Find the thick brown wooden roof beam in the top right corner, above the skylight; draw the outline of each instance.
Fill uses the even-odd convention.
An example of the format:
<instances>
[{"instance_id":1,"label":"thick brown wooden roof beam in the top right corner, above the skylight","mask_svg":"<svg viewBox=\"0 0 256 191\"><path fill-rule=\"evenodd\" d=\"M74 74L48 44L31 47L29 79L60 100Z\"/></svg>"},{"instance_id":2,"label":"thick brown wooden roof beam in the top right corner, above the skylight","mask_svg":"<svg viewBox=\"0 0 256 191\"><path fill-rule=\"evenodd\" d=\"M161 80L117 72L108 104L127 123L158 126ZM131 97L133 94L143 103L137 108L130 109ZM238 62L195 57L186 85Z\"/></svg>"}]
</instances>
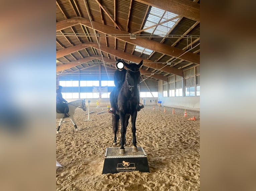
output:
<instances>
[{"instance_id":1,"label":"thick brown wooden roof beam in the top right corner, above the skylight","mask_svg":"<svg viewBox=\"0 0 256 191\"><path fill-rule=\"evenodd\" d=\"M140 3L157 7L181 15L188 19L200 21L200 4L189 0L135 0Z\"/></svg>"}]
</instances>

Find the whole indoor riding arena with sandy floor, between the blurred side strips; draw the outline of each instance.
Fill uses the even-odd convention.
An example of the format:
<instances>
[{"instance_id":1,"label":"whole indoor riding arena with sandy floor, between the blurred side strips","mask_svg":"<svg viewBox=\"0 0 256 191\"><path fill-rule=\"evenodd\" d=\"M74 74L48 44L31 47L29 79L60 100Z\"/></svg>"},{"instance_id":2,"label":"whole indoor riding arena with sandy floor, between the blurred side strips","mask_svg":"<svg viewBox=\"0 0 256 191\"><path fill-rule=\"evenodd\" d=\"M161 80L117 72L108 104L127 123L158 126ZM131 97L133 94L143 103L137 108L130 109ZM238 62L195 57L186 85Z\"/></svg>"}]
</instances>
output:
<instances>
[{"instance_id":1,"label":"whole indoor riding arena with sandy floor, between the blurred side strips","mask_svg":"<svg viewBox=\"0 0 256 191\"><path fill-rule=\"evenodd\" d=\"M56 190L200 190L200 0L56 1Z\"/></svg>"}]
</instances>

